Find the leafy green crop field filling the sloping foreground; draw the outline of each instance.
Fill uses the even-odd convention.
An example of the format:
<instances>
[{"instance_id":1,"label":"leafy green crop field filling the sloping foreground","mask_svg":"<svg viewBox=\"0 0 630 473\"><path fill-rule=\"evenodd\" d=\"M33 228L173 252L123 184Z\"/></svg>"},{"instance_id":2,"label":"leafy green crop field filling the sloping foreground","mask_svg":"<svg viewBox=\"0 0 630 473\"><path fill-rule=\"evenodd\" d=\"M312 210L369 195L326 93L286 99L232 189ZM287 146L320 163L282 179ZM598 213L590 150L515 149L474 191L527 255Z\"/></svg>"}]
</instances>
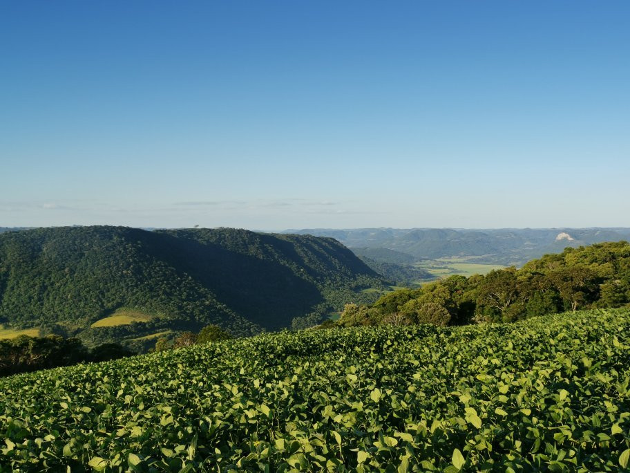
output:
<instances>
[{"instance_id":1,"label":"leafy green crop field filling the sloping foreground","mask_svg":"<svg viewBox=\"0 0 630 473\"><path fill-rule=\"evenodd\" d=\"M0 380L0 465L618 471L629 384L627 310L260 335Z\"/></svg>"}]
</instances>

